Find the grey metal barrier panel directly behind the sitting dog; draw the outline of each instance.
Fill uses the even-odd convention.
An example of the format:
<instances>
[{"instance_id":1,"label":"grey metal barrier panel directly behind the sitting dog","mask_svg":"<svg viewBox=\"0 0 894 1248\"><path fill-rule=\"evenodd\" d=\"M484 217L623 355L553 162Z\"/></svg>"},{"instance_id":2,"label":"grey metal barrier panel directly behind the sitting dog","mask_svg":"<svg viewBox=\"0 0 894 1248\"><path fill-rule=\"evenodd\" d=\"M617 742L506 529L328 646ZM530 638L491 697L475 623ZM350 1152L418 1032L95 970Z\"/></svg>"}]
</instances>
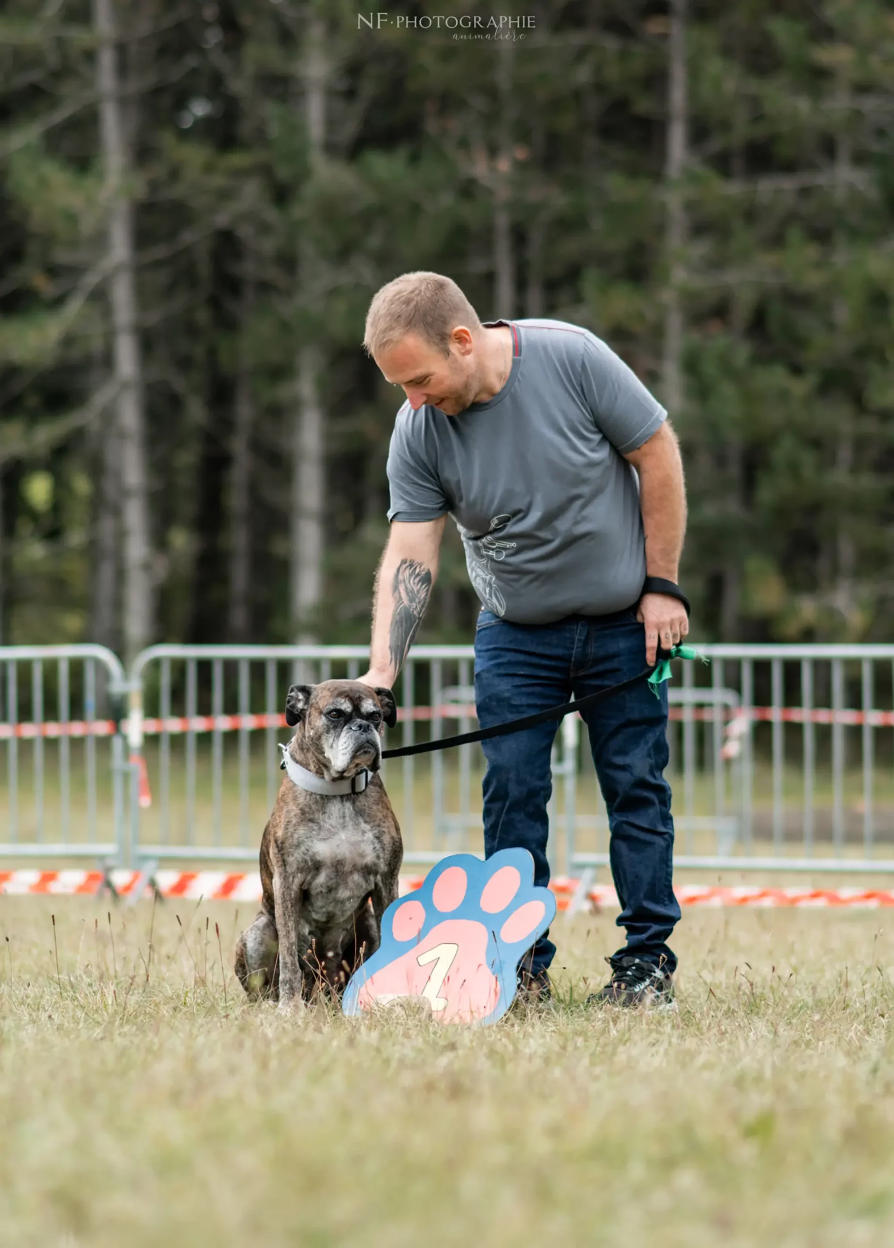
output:
<instances>
[{"instance_id":1,"label":"grey metal barrier panel directly behind the sitting dog","mask_svg":"<svg viewBox=\"0 0 894 1248\"><path fill-rule=\"evenodd\" d=\"M401 675L388 744L468 731L474 718L471 646L417 646ZM356 678L366 646L180 646L144 651L131 673L142 690L129 726L146 759L151 806L131 804L134 851L144 859L253 860L282 774L288 685ZM425 738L420 736L425 734ZM477 849L479 746L386 761L407 862Z\"/></svg>"}]
</instances>

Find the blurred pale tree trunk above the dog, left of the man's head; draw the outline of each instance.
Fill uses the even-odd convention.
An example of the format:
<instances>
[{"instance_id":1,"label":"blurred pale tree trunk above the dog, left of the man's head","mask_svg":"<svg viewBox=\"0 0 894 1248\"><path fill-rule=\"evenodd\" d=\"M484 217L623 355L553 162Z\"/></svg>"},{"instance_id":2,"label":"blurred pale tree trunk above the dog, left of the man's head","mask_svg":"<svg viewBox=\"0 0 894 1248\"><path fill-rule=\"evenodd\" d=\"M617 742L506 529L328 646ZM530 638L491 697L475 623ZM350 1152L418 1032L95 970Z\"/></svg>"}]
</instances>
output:
<instances>
[{"instance_id":1,"label":"blurred pale tree trunk above the dog, left of the man's head","mask_svg":"<svg viewBox=\"0 0 894 1248\"><path fill-rule=\"evenodd\" d=\"M326 31L317 14L308 19L307 41L301 66L305 126L311 157L311 176L326 158L326 91L330 65ZM305 298L322 297L318 290L318 260L300 243L298 290ZM311 617L320 605L323 585L325 451L323 408L320 394L322 351L316 342L298 349L296 412L292 428L292 514L290 525L290 607L292 633L298 643L313 636Z\"/></svg>"}]
</instances>

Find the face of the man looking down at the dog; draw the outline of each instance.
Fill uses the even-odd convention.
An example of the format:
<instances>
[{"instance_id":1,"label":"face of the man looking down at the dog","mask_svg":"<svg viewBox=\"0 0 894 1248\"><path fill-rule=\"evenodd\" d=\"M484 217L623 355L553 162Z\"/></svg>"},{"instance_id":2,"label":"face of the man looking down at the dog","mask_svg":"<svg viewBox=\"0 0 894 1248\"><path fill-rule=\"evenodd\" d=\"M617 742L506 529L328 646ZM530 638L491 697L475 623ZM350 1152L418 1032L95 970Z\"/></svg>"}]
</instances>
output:
<instances>
[{"instance_id":1,"label":"face of the man looking down at the dog","mask_svg":"<svg viewBox=\"0 0 894 1248\"><path fill-rule=\"evenodd\" d=\"M474 402L478 391L472 334L459 326L451 334L449 354L415 333L376 356L385 379L400 386L416 412L425 403L457 416Z\"/></svg>"}]
</instances>

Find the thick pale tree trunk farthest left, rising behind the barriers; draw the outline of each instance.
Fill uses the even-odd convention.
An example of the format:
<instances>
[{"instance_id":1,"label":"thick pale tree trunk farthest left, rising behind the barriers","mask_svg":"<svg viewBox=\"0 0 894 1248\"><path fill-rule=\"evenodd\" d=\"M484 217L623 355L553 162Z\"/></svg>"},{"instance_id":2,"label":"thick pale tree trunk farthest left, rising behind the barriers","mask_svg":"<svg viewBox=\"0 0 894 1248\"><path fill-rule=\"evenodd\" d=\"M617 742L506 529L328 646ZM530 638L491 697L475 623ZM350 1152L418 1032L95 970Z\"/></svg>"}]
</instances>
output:
<instances>
[{"instance_id":1,"label":"thick pale tree trunk farthest left, rising behind the barriers","mask_svg":"<svg viewBox=\"0 0 894 1248\"><path fill-rule=\"evenodd\" d=\"M149 645L154 631L152 552L149 530L149 480L142 371L140 361L136 280L134 270L134 203L126 185L130 158L125 146L117 46L112 0L94 0L99 37L96 81L100 96L100 137L109 197L109 295L121 470L124 538L124 650L130 661Z\"/></svg>"}]
</instances>

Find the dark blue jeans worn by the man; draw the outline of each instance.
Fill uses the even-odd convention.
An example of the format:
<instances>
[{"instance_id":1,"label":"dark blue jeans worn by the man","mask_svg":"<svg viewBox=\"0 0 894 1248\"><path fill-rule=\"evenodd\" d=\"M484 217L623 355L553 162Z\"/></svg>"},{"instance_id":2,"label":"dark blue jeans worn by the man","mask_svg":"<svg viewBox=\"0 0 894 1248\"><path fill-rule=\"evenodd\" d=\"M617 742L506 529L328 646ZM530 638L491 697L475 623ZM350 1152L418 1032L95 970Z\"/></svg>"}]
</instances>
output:
<instances>
[{"instance_id":1,"label":"dark blue jeans worn by the man","mask_svg":"<svg viewBox=\"0 0 894 1248\"><path fill-rule=\"evenodd\" d=\"M474 698L482 728L583 698L646 666L646 635L636 608L612 615L571 615L557 624L509 624L482 612L474 634ZM618 926L634 953L673 971L667 941L679 919L673 894L673 819L668 761L667 688L656 698L646 679L583 713L608 810ZM484 854L522 846L534 860L534 884L549 882L547 802L549 753L558 721L483 741ZM556 946L543 936L529 965L549 966Z\"/></svg>"}]
</instances>

